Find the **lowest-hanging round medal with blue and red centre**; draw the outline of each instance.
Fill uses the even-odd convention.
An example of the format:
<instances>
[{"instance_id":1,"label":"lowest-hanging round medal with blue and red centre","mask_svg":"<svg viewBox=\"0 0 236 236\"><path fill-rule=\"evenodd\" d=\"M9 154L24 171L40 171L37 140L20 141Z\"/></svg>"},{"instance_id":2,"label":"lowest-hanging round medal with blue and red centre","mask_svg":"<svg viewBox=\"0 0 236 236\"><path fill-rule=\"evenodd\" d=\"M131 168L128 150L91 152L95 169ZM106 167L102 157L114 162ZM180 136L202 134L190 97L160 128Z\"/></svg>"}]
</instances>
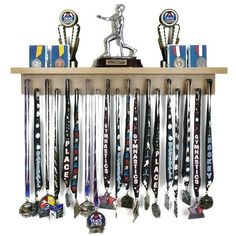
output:
<instances>
[{"instance_id":1,"label":"lowest-hanging round medal with blue and red centre","mask_svg":"<svg viewBox=\"0 0 236 236\"><path fill-rule=\"evenodd\" d=\"M105 216L95 211L87 218L87 226L90 229L90 233L102 233L106 224Z\"/></svg>"}]
</instances>

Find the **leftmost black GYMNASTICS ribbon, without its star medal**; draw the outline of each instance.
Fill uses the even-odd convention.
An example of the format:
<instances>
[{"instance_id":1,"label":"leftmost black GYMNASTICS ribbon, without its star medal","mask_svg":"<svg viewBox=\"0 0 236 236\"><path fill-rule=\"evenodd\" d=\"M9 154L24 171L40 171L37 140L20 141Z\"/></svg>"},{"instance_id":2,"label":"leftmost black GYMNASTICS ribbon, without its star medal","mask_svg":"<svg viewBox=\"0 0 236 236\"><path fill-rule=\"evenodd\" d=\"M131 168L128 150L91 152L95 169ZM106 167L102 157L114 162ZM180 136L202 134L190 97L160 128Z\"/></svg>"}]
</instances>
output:
<instances>
[{"instance_id":1,"label":"leftmost black GYMNASTICS ribbon, without its star medal","mask_svg":"<svg viewBox=\"0 0 236 236\"><path fill-rule=\"evenodd\" d=\"M111 157L110 157L110 80L106 80L104 130L103 130L103 178L105 189L110 186Z\"/></svg>"}]
</instances>

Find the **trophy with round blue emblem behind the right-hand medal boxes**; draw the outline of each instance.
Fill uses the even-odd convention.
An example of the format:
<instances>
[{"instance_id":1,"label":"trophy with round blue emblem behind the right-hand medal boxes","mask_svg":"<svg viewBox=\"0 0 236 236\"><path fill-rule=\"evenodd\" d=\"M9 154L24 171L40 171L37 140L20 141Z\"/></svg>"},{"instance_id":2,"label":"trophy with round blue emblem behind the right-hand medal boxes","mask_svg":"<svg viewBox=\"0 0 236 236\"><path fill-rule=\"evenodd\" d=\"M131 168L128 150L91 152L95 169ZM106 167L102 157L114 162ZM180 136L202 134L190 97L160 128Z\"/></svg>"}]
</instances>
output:
<instances>
[{"instance_id":1,"label":"trophy with round blue emblem behind the right-hand medal boxes","mask_svg":"<svg viewBox=\"0 0 236 236\"><path fill-rule=\"evenodd\" d=\"M178 44L180 26L178 22L178 14L173 9L164 10L159 18L158 25L158 43L161 49L163 60L161 67L167 67L167 45Z\"/></svg>"}]
</instances>

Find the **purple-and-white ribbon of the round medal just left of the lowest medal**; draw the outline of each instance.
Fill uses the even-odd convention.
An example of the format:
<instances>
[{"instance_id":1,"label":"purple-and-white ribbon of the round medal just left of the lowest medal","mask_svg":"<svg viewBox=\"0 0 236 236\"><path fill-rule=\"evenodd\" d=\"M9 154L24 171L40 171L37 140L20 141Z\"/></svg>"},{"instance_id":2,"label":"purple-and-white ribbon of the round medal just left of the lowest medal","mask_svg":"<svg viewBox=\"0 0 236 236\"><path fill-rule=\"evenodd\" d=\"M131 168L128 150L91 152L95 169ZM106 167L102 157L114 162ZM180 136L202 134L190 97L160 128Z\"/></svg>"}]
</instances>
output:
<instances>
[{"instance_id":1,"label":"purple-and-white ribbon of the round medal just left of the lowest medal","mask_svg":"<svg viewBox=\"0 0 236 236\"><path fill-rule=\"evenodd\" d=\"M90 195L90 164L91 164L91 150L90 150L90 126L91 126L91 111L90 111L90 96L91 87L90 80L86 80L86 96L85 96L85 197Z\"/></svg>"}]
</instances>

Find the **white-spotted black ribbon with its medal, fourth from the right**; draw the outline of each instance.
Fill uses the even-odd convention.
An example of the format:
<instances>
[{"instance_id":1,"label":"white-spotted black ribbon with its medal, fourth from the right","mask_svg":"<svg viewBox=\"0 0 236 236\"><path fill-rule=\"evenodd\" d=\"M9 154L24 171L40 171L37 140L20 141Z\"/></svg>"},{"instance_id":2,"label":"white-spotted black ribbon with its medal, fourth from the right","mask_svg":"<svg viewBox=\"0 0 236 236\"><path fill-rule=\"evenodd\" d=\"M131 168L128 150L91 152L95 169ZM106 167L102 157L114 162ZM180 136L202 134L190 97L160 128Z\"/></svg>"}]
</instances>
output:
<instances>
[{"instance_id":1,"label":"white-spotted black ribbon with its medal, fourth from the right","mask_svg":"<svg viewBox=\"0 0 236 236\"><path fill-rule=\"evenodd\" d=\"M180 110L180 89L175 90L175 161L174 161L174 214L178 217L178 185L179 185L179 110Z\"/></svg>"}]
</instances>

